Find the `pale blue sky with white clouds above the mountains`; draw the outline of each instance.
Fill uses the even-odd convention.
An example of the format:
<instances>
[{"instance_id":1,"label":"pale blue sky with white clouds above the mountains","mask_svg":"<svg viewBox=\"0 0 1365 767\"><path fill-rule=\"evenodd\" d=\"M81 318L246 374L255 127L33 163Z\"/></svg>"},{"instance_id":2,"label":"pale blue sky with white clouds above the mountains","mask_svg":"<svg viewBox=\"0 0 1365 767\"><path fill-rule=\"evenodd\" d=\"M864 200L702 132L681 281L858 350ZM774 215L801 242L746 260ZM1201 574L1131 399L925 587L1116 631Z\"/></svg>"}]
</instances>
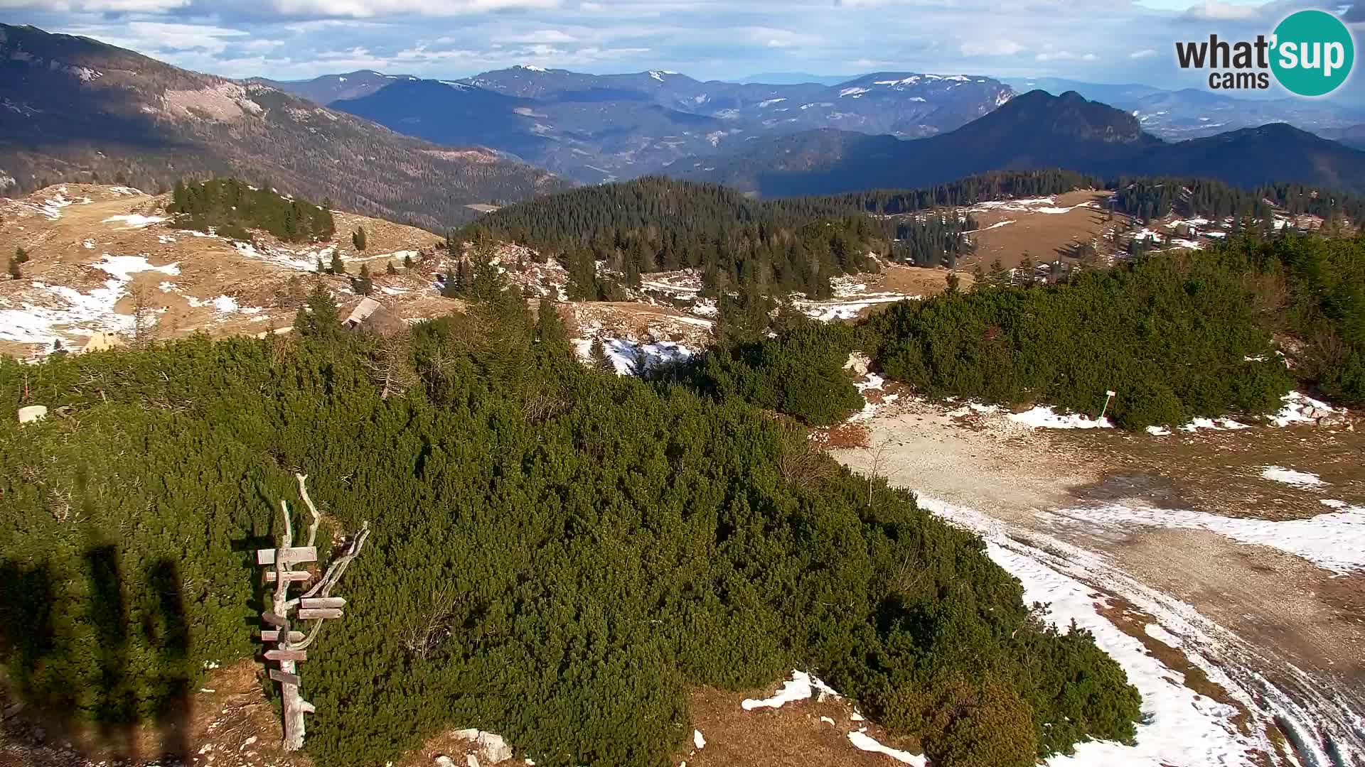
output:
<instances>
[{"instance_id":1,"label":"pale blue sky with white clouds above the mountains","mask_svg":"<svg viewBox=\"0 0 1365 767\"><path fill-rule=\"evenodd\" d=\"M378 70L444 79L532 64L698 79L872 71L1207 87L1179 40L1249 40L1365 0L0 0L0 19L225 76ZM1357 68L1365 68L1365 64ZM1365 102L1365 75L1327 98Z\"/></svg>"}]
</instances>

